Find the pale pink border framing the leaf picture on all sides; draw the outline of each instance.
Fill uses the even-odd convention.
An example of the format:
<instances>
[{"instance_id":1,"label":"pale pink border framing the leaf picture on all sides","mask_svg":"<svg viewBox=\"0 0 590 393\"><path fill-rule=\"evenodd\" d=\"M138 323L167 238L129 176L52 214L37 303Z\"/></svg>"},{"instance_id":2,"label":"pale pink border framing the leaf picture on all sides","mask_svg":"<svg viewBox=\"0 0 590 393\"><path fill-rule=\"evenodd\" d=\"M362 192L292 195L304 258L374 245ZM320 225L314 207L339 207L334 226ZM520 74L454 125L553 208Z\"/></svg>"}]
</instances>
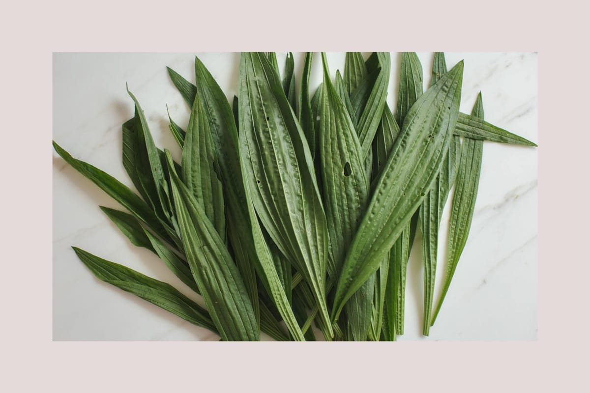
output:
<instances>
[{"instance_id":1,"label":"pale pink border framing the leaf picture on all sides","mask_svg":"<svg viewBox=\"0 0 590 393\"><path fill-rule=\"evenodd\" d=\"M587 388L588 13L578 2L136 3L3 12L3 390ZM51 52L252 49L539 51L537 342L51 342Z\"/></svg>"}]
</instances>

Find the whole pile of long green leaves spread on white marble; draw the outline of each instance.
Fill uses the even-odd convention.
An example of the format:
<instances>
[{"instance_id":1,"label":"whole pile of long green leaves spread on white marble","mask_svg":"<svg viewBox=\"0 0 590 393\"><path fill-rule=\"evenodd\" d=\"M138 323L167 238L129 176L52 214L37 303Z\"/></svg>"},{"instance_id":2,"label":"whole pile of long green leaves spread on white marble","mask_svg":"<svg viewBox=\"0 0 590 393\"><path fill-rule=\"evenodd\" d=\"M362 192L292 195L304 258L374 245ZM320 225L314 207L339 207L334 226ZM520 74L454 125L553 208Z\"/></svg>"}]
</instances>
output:
<instances>
[{"instance_id":1,"label":"whole pile of long green leaves spread on white marble","mask_svg":"<svg viewBox=\"0 0 590 393\"><path fill-rule=\"evenodd\" d=\"M142 108L123 124L123 166L137 192L55 151L127 212L101 207L136 246L158 255L205 308L171 285L73 247L104 282L217 333L224 341L394 341L404 330L406 267L424 239L424 335L466 245L483 141L536 146L483 120L481 94L460 113L463 62L435 53L430 87L401 54L395 113L386 104L391 56L348 52L310 94L313 53L296 96L293 55L281 79L274 52L241 54L232 106L204 64L195 84L168 69L191 107L170 119L177 163L155 146ZM433 307L441 214L454 186L447 265ZM434 312L433 312L434 310Z\"/></svg>"}]
</instances>

